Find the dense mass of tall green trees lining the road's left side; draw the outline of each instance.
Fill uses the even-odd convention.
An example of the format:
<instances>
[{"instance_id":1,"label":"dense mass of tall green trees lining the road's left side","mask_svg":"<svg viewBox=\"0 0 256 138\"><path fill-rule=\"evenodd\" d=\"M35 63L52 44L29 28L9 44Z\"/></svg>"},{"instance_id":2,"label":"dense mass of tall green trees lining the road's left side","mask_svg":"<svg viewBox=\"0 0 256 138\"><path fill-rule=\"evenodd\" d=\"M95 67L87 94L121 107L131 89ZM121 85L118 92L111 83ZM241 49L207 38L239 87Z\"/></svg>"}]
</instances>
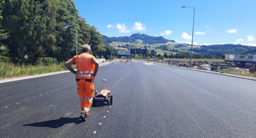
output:
<instances>
[{"instance_id":1,"label":"dense mass of tall green trees lining the road's left side","mask_svg":"<svg viewBox=\"0 0 256 138\"><path fill-rule=\"evenodd\" d=\"M0 0L0 61L66 61L81 45L97 56L106 50L95 26L87 24L72 0ZM25 57L25 58L24 58Z\"/></svg>"}]
</instances>

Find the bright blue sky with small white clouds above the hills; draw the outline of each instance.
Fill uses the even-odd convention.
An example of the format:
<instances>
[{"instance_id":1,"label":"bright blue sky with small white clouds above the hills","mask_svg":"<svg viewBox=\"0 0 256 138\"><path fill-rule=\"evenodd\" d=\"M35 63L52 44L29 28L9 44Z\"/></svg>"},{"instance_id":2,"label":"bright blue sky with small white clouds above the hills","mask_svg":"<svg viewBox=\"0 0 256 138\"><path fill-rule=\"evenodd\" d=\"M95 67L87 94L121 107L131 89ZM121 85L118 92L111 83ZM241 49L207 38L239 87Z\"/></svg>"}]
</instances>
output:
<instances>
[{"instance_id":1,"label":"bright blue sky with small white clouds above the hills","mask_svg":"<svg viewBox=\"0 0 256 138\"><path fill-rule=\"evenodd\" d=\"M134 33L191 44L256 47L255 0L73 0L80 16L108 37Z\"/></svg>"}]
</instances>

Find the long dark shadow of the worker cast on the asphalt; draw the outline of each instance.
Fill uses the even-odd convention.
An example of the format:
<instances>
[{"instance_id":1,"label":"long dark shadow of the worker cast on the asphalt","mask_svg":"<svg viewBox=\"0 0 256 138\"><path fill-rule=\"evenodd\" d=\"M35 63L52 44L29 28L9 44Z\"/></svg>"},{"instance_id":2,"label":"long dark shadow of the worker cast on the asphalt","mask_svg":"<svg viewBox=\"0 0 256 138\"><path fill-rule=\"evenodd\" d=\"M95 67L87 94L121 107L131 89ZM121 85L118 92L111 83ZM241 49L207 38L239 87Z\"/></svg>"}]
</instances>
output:
<instances>
[{"instance_id":1,"label":"long dark shadow of the worker cast on the asphalt","mask_svg":"<svg viewBox=\"0 0 256 138\"><path fill-rule=\"evenodd\" d=\"M61 117L59 119L44 121L44 122L37 122L37 123L29 123L23 126L33 126L33 127L51 127L51 128L58 128L68 123L75 123L80 124L82 123L80 117L75 118L68 118L68 117Z\"/></svg>"}]
</instances>

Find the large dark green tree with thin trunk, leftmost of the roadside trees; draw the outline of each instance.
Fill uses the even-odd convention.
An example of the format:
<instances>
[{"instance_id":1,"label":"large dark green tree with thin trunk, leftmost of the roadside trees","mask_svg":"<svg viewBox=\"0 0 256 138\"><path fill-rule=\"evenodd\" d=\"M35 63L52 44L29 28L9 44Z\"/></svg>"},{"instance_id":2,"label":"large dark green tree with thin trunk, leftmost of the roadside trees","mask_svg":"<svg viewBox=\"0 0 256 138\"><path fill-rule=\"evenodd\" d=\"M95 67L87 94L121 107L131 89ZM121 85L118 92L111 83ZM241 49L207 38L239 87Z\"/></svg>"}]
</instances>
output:
<instances>
[{"instance_id":1,"label":"large dark green tree with thin trunk, leftmost of the roadside trees","mask_svg":"<svg viewBox=\"0 0 256 138\"><path fill-rule=\"evenodd\" d=\"M34 0L6 0L3 4L2 16L3 28L10 31L19 44L18 49L23 64L25 52L32 57L38 53L39 43L46 31L42 4Z\"/></svg>"}]
</instances>

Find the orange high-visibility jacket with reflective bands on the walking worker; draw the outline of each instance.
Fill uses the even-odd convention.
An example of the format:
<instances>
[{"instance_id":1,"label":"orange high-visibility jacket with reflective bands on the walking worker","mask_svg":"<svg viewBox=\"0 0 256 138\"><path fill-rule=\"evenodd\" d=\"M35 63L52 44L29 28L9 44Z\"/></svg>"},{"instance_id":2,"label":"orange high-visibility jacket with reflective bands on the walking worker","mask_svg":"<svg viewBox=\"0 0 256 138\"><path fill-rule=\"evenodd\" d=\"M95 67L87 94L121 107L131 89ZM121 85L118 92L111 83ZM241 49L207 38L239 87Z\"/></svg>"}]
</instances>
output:
<instances>
[{"instance_id":1,"label":"orange high-visibility jacket with reflective bands on the walking worker","mask_svg":"<svg viewBox=\"0 0 256 138\"><path fill-rule=\"evenodd\" d=\"M96 61L96 58L87 53L78 54L72 58L72 62L75 62L77 66L76 79L94 79L94 76L90 74L95 71L92 61Z\"/></svg>"}]
</instances>

